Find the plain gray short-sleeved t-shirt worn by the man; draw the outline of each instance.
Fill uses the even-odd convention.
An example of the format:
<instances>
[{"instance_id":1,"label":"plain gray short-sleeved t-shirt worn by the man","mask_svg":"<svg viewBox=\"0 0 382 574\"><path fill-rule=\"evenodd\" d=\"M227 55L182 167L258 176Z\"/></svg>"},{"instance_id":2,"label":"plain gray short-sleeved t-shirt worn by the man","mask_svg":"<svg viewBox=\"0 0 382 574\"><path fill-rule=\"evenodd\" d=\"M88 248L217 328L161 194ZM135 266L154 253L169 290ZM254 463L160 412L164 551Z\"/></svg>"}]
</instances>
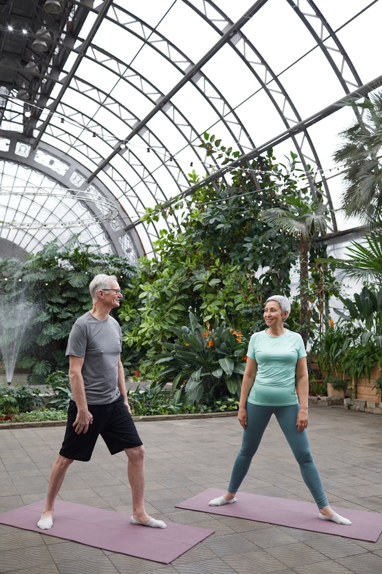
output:
<instances>
[{"instance_id":1,"label":"plain gray short-sleeved t-shirt worn by the man","mask_svg":"<svg viewBox=\"0 0 382 574\"><path fill-rule=\"evenodd\" d=\"M119 397L121 346L122 331L113 317L100 321L88 311L74 323L65 354L84 358L82 378L88 405L108 405Z\"/></svg>"}]
</instances>

